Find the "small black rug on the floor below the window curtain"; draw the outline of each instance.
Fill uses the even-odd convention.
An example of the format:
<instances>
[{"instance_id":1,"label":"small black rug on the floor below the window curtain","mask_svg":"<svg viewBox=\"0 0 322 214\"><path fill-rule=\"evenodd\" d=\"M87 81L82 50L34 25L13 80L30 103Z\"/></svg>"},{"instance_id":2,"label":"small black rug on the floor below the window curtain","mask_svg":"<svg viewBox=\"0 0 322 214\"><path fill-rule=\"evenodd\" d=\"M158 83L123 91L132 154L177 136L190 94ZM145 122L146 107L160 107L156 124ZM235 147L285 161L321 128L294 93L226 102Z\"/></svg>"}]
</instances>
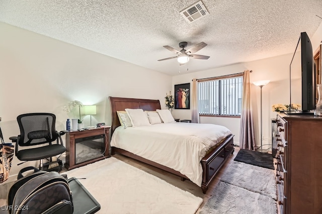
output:
<instances>
[{"instance_id":1,"label":"small black rug on the floor below the window curtain","mask_svg":"<svg viewBox=\"0 0 322 214\"><path fill-rule=\"evenodd\" d=\"M234 161L252 164L268 169L274 169L272 154L240 149Z\"/></svg>"}]
</instances>

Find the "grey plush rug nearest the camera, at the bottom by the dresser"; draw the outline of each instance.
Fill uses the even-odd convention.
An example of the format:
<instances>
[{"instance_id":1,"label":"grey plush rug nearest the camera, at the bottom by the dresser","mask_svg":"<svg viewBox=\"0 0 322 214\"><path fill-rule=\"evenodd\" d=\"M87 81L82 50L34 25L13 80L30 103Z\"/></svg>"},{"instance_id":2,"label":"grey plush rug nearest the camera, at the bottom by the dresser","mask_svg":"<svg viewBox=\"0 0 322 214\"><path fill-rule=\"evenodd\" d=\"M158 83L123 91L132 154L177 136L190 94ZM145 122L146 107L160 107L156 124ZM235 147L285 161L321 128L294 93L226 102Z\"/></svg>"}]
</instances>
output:
<instances>
[{"instance_id":1,"label":"grey plush rug nearest the camera, at the bottom by the dresser","mask_svg":"<svg viewBox=\"0 0 322 214\"><path fill-rule=\"evenodd\" d=\"M276 201L257 192L220 181L202 207L201 214L275 214Z\"/></svg>"}]
</instances>

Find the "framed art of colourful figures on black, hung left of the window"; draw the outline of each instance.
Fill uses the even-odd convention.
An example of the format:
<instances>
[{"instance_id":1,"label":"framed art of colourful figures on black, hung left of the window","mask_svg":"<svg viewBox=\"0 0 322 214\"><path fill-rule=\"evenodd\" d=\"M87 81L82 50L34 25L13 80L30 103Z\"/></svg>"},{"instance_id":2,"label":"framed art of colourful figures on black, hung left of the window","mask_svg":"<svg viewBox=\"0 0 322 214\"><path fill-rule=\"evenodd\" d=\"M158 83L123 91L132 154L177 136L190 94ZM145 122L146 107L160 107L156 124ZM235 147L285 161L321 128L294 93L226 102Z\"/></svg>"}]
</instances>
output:
<instances>
[{"instance_id":1,"label":"framed art of colourful figures on black, hung left of the window","mask_svg":"<svg viewBox=\"0 0 322 214\"><path fill-rule=\"evenodd\" d=\"M175 109L190 109L190 83L175 85Z\"/></svg>"}]
</instances>

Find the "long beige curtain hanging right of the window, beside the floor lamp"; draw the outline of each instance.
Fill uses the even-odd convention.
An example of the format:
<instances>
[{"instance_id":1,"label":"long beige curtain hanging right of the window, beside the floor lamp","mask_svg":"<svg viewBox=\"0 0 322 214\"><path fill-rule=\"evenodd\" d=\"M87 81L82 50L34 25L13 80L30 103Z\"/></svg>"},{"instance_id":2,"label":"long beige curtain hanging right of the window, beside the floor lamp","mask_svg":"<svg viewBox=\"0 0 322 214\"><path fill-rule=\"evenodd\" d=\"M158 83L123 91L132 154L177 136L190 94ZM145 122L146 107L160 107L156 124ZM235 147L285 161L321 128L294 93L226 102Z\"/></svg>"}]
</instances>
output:
<instances>
[{"instance_id":1,"label":"long beige curtain hanging right of the window, beside the floor lamp","mask_svg":"<svg viewBox=\"0 0 322 214\"><path fill-rule=\"evenodd\" d=\"M240 149L248 150L257 149L251 105L251 82L249 70L244 71L243 75L243 101L241 104L239 147Z\"/></svg>"}]
</instances>

